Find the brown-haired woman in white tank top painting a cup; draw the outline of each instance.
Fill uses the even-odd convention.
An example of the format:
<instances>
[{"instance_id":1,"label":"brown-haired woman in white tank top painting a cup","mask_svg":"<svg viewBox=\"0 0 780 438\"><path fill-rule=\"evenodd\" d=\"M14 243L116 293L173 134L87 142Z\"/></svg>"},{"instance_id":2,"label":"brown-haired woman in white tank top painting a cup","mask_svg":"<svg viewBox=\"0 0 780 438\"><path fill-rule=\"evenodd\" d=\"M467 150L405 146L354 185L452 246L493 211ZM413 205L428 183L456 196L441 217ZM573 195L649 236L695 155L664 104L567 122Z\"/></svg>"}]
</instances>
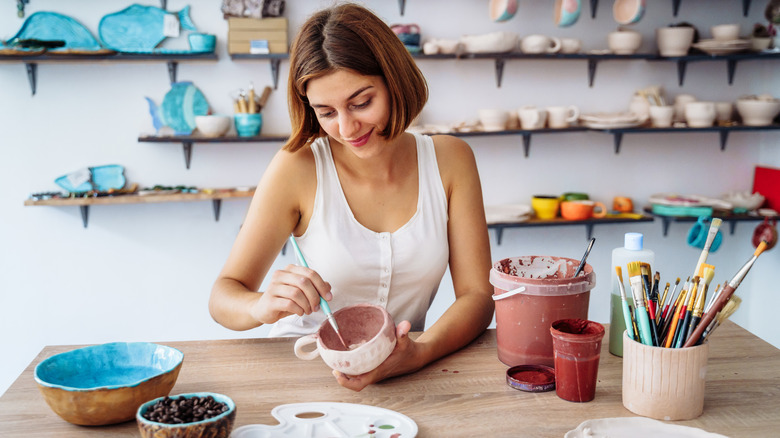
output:
<instances>
[{"instance_id":1,"label":"brown-haired woman in white tank top painting a cup","mask_svg":"<svg viewBox=\"0 0 780 438\"><path fill-rule=\"evenodd\" d=\"M370 11L344 4L316 13L290 56L292 135L258 184L246 220L214 284L209 310L271 336L317 330L325 315L369 302L398 323L397 345L375 370L334 371L359 391L413 372L465 346L493 315L490 247L469 146L450 136L406 133L427 99L403 44ZM294 234L308 265L271 274ZM449 265L455 302L415 340Z\"/></svg>"}]
</instances>

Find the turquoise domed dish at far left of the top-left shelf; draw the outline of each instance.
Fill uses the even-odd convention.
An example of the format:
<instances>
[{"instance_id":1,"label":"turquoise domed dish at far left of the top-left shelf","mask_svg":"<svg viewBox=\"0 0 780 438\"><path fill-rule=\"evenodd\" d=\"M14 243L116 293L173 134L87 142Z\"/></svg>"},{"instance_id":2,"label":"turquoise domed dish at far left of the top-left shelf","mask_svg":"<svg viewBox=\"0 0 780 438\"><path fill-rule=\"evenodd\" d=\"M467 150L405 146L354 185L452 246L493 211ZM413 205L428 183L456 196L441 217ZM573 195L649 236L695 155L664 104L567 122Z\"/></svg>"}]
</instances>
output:
<instances>
[{"instance_id":1,"label":"turquoise domed dish at far left of the top-left shelf","mask_svg":"<svg viewBox=\"0 0 780 438\"><path fill-rule=\"evenodd\" d=\"M14 46L20 40L63 41L63 47L49 49L49 52L81 50L103 50L100 42L83 24L67 15L56 12L36 12L26 20L19 32L7 44Z\"/></svg>"}]
</instances>

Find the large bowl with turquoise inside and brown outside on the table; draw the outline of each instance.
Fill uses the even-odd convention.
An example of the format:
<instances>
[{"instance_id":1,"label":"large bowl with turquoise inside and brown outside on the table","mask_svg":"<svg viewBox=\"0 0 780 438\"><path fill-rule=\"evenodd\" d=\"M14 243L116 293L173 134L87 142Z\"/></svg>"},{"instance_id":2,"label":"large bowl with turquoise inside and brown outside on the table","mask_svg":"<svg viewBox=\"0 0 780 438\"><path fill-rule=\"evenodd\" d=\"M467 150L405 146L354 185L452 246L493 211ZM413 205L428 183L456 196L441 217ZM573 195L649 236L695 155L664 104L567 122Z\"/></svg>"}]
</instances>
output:
<instances>
[{"instance_id":1,"label":"large bowl with turquoise inside and brown outside on the table","mask_svg":"<svg viewBox=\"0 0 780 438\"><path fill-rule=\"evenodd\" d=\"M145 401L167 395L184 353L148 342L114 342L56 354L35 367L49 407L69 423L100 426L132 420Z\"/></svg>"}]
</instances>

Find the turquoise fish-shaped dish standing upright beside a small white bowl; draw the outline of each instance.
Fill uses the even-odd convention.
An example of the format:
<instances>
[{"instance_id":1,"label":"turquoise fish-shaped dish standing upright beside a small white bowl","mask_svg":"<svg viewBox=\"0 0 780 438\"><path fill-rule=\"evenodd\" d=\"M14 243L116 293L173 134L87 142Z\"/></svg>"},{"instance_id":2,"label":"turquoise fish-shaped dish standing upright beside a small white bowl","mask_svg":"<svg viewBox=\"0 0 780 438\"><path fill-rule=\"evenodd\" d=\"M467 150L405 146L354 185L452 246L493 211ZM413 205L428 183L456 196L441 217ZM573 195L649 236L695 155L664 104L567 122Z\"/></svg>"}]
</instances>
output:
<instances>
[{"instance_id":1,"label":"turquoise fish-shaped dish standing upright beside a small white bowl","mask_svg":"<svg viewBox=\"0 0 780 438\"><path fill-rule=\"evenodd\" d=\"M195 130L195 116L209 113L206 97L190 81L174 82L159 106L148 97L146 101L158 132L167 126L175 135L190 135Z\"/></svg>"}]
</instances>

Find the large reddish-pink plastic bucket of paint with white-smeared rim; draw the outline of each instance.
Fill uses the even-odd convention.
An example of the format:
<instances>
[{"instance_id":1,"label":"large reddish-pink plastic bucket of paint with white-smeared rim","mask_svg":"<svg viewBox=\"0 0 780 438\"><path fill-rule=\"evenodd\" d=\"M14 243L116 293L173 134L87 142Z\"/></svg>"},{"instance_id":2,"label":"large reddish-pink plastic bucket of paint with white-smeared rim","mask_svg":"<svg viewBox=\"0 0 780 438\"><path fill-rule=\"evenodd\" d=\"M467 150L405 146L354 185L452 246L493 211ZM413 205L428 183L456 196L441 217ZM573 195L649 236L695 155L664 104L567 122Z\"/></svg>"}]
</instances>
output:
<instances>
[{"instance_id":1,"label":"large reddish-pink plastic bucket of paint with white-smeared rim","mask_svg":"<svg viewBox=\"0 0 780 438\"><path fill-rule=\"evenodd\" d=\"M501 362L510 367L553 366L550 324L559 319L588 318L596 274L586 264L574 277L579 263L564 257L522 256L494 264L490 283L496 300L496 341ZM521 287L521 292L508 293Z\"/></svg>"}]
</instances>

